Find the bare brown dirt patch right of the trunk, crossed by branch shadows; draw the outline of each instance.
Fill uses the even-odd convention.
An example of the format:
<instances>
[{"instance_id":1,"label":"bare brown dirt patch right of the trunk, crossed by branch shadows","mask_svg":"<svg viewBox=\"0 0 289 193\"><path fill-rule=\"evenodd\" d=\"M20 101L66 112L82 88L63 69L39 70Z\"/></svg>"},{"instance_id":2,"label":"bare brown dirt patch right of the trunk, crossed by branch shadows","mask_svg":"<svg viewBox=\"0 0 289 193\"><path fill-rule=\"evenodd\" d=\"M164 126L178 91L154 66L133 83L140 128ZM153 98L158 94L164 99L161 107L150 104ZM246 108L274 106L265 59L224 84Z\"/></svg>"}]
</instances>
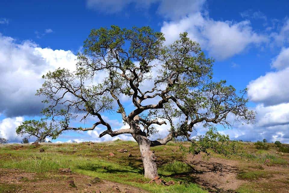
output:
<instances>
[{"instance_id":1,"label":"bare brown dirt patch right of the trunk, crossed by branch shadows","mask_svg":"<svg viewBox=\"0 0 289 193\"><path fill-rule=\"evenodd\" d=\"M203 160L201 154L195 155L194 158L189 154L187 162L194 166L190 174L194 178L194 182L208 188L210 191L234 192L235 189L246 182L236 178L240 172L238 161L218 158Z\"/></svg>"}]
</instances>

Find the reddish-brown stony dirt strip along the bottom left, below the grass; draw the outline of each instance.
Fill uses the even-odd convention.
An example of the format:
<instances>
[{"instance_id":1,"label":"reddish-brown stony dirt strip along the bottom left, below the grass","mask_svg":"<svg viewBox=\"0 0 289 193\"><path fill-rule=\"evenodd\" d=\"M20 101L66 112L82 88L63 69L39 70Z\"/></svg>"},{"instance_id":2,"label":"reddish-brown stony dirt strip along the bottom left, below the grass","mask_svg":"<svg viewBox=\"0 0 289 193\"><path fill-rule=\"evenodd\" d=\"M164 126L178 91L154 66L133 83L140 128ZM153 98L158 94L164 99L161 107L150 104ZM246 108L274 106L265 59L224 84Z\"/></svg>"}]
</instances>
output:
<instances>
[{"instance_id":1,"label":"reddish-brown stony dirt strip along the bottom left, below the grass","mask_svg":"<svg viewBox=\"0 0 289 193\"><path fill-rule=\"evenodd\" d=\"M18 169L0 169L0 184L7 186L6 192L11 193L147 193L139 188L106 180L92 183L92 179L75 173L36 174Z\"/></svg>"}]
</instances>

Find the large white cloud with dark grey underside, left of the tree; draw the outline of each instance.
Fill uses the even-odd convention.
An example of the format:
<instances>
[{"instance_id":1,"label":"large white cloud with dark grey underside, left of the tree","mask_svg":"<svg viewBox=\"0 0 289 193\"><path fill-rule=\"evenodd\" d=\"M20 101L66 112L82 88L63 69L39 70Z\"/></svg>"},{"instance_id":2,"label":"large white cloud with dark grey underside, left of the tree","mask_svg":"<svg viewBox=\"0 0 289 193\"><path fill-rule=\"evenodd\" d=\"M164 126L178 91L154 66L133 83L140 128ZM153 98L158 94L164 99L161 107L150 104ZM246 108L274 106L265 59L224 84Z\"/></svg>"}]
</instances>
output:
<instances>
[{"instance_id":1,"label":"large white cloud with dark grey underside, left of the tree","mask_svg":"<svg viewBox=\"0 0 289 193\"><path fill-rule=\"evenodd\" d=\"M69 50L17 43L0 34L0 113L8 117L39 114L43 99L35 93L43 83L42 75L58 67L73 70L75 59Z\"/></svg>"}]
</instances>

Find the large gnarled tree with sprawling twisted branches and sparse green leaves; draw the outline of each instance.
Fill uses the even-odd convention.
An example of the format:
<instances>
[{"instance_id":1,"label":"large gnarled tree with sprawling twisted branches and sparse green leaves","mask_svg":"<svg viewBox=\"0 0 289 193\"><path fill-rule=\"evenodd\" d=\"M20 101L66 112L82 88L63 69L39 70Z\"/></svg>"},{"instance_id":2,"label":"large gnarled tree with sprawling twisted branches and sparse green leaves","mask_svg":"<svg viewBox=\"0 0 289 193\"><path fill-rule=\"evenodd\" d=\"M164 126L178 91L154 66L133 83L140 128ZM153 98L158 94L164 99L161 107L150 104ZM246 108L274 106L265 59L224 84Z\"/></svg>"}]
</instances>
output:
<instances>
[{"instance_id":1,"label":"large gnarled tree with sprawling twisted branches and sparse green leaves","mask_svg":"<svg viewBox=\"0 0 289 193\"><path fill-rule=\"evenodd\" d=\"M247 108L247 90L237 94L233 86L226 86L226 81L213 82L214 60L206 58L187 33L181 33L179 40L169 46L164 41L164 34L150 27L92 30L84 42L84 52L78 54L76 71L58 68L43 76L44 84L36 94L47 98L43 102L49 106L43 113L49 124L44 120L35 122L37 127L31 132L40 134L40 138L55 139L67 130L88 131L103 125L106 130L99 137L131 134L140 147L144 176L148 178L158 175L156 156L150 148L175 137L191 141L189 153L208 153L207 148L224 153L229 138L212 125L231 127L229 115L236 121L253 122L255 113ZM155 72L157 76L152 76ZM102 81L90 84L100 73ZM131 112L123 105L124 96L134 106ZM104 119L104 112L112 111L120 113L128 128L113 130ZM89 116L97 120L91 127L73 127L70 121L79 115L81 120ZM34 122L23 122L19 133L30 130L30 123ZM151 140L157 132L154 125L163 124L169 124L169 134ZM197 124L209 130L197 136L196 142L190 132L196 130Z\"/></svg>"}]
</instances>

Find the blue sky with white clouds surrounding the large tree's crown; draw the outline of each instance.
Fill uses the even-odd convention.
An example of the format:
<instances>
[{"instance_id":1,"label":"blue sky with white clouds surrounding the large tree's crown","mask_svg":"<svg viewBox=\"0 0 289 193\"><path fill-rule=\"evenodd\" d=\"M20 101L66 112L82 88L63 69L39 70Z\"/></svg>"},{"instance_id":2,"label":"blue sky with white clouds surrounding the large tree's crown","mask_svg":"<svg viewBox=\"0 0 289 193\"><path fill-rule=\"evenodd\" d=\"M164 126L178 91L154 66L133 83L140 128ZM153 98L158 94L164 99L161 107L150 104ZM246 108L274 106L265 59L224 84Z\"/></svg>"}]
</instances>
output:
<instances>
[{"instance_id":1,"label":"blue sky with white clouds surrounding the large tree's crown","mask_svg":"<svg viewBox=\"0 0 289 193\"><path fill-rule=\"evenodd\" d=\"M225 79L237 90L249 87L249 106L258 113L255 125L236 123L220 132L232 139L289 143L288 11L287 1L1 1L0 137L21 141L15 127L38 119L43 107L34 96L41 75L59 66L73 69L92 28L118 25L150 26L165 34L167 44L187 31L216 59L214 80ZM123 127L120 116L105 116L115 128ZM102 129L68 132L57 140L111 140L97 138ZM160 128L158 135L165 134Z\"/></svg>"}]
</instances>

